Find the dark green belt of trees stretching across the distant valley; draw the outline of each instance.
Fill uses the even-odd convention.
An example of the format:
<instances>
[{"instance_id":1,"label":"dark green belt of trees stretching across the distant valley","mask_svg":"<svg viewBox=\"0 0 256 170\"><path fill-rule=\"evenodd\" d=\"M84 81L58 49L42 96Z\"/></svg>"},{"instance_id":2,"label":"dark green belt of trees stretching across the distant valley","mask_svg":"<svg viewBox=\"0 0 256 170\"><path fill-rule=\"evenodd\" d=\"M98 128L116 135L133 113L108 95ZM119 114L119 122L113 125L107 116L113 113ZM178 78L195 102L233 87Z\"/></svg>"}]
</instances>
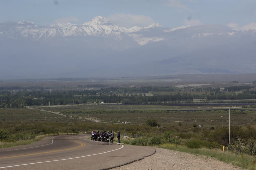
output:
<instances>
[{"instance_id":1,"label":"dark green belt of trees stretching across the distant valley","mask_svg":"<svg viewBox=\"0 0 256 170\"><path fill-rule=\"evenodd\" d=\"M241 88L233 87L233 89ZM174 92L169 95L146 95L146 92L154 92L151 90ZM192 103L194 102L194 99L204 99L205 102L212 100L223 102L224 100L256 99L256 93L254 91L250 92L247 90L242 93L215 91L210 92L209 94L206 92L203 94L191 94L187 92L180 92L179 90L176 89L176 87L107 87L97 90L5 89L0 90L0 106L2 108L21 108L30 105L82 104L95 102L96 100L104 103L159 104ZM210 89L208 88L208 90Z\"/></svg>"}]
</instances>

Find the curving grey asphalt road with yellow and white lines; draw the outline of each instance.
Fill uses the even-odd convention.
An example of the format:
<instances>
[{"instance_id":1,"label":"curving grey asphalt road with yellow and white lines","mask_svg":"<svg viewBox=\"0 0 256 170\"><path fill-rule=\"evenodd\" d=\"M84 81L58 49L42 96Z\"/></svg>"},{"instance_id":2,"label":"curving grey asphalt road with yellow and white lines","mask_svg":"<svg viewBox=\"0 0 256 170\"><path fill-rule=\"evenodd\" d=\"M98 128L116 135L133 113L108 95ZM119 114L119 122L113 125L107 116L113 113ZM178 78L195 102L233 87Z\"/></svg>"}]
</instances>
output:
<instances>
[{"instance_id":1,"label":"curving grey asphalt road with yellow and white lines","mask_svg":"<svg viewBox=\"0 0 256 170\"><path fill-rule=\"evenodd\" d=\"M89 140L90 135L46 137L23 146L0 149L0 169L103 170L155 153L153 147Z\"/></svg>"}]
</instances>

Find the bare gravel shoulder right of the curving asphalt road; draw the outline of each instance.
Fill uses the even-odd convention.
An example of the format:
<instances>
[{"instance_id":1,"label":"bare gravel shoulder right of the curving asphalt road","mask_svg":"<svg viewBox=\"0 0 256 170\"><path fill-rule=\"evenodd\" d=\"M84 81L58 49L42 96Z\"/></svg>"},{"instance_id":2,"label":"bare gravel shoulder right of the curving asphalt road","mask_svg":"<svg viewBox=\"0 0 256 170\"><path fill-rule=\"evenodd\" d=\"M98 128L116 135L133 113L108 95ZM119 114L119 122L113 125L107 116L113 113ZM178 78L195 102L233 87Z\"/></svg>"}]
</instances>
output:
<instances>
[{"instance_id":1,"label":"bare gravel shoulder right of the curving asphalt road","mask_svg":"<svg viewBox=\"0 0 256 170\"><path fill-rule=\"evenodd\" d=\"M149 157L111 170L241 170L232 164L203 155L155 149L156 153Z\"/></svg>"}]
</instances>

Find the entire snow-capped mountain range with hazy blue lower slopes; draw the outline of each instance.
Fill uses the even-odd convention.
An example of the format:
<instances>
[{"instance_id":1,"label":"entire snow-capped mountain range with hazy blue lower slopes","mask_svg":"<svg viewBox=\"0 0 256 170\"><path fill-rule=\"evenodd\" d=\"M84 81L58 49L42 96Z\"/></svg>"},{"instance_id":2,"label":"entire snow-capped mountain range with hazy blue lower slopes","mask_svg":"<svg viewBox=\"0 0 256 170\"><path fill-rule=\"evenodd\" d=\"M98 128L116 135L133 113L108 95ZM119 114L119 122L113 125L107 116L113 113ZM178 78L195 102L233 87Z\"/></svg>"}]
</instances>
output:
<instances>
[{"instance_id":1,"label":"entire snow-capped mountain range with hazy blue lower slopes","mask_svg":"<svg viewBox=\"0 0 256 170\"><path fill-rule=\"evenodd\" d=\"M221 25L124 28L101 16L81 25L23 20L0 24L0 71L3 77L255 73L255 45L256 29Z\"/></svg>"}]
</instances>

